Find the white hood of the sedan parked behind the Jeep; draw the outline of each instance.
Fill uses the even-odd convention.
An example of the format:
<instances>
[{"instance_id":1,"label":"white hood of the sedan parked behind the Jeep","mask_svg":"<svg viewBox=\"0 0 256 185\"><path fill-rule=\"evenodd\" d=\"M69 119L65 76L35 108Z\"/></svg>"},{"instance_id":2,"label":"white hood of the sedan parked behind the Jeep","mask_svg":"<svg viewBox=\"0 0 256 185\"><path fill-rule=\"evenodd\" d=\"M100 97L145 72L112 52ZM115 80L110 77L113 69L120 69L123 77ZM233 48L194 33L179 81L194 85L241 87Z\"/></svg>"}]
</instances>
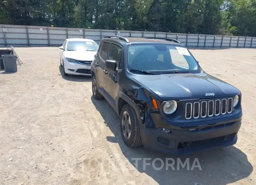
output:
<instances>
[{"instance_id":1,"label":"white hood of the sedan parked behind the Jeep","mask_svg":"<svg viewBox=\"0 0 256 185\"><path fill-rule=\"evenodd\" d=\"M93 61L97 51L63 51L65 58L75 60Z\"/></svg>"}]
</instances>

